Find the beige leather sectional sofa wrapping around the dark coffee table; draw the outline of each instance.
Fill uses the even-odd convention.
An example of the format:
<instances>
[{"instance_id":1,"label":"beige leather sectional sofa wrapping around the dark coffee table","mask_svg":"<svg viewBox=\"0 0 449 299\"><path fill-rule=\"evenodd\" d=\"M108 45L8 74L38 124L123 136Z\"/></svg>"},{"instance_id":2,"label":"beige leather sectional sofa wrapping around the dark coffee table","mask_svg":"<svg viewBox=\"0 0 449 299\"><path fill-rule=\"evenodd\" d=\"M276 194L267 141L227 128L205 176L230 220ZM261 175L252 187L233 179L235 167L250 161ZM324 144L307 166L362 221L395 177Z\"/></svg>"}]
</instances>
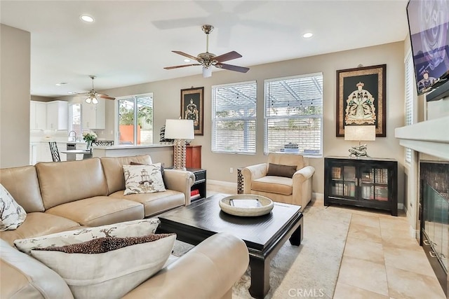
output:
<instances>
[{"instance_id":1,"label":"beige leather sectional sofa wrapping around the dark coffee table","mask_svg":"<svg viewBox=\"0 0 449 299\"><path fill-rule=\"evenodd\" d=\"M0 183L27 211L25 222L17 229L0 232L0 298L67 298L61 296L68 289L63 279L15 249L15 239L142 219L190 203L194 174L175 169L164 170L165 192L123 195L122 166L130 162L149 164L152 160L140 155L0 169ZM231 298L232 285L246 267L244 242L217 234L126 298ZM208 284L203 284L206 279Z\"/></svg>"}]
</instances>

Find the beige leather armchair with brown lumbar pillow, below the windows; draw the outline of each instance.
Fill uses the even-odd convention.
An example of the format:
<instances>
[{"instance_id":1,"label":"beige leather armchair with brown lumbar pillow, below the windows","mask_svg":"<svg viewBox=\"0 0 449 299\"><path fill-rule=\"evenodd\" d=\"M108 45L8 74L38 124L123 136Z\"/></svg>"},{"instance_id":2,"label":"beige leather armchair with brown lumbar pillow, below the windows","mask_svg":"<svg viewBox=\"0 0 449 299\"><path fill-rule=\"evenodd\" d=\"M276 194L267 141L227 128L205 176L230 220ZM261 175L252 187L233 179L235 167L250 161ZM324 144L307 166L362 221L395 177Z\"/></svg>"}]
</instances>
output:
<instances>
[{"instance_id":1,"label":"beige leather armchair with brown lumbar pillow, below the windows","mask_svg":"<svg viewBox=\"0 0 449 299\"><path fill-rule=\"evenodd\" d=\"M302 155L269 153L267 163L241 170L243 193L262 195L274 202L297 204L302 211L311 200L311 179L315 173L315 168L308 164L308 159Z\"/></svg>"}]
</instances>

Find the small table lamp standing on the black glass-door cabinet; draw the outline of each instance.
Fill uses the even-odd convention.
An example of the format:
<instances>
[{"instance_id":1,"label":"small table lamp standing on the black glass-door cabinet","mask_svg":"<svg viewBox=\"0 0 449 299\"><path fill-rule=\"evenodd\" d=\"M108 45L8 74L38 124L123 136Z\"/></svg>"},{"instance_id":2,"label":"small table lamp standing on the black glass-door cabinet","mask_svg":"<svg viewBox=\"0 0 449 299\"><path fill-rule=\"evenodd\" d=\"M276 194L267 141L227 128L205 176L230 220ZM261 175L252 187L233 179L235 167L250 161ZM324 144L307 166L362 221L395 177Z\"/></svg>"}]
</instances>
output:
<instances>
[{"instance_id":1,"label":"small table lamp standing on the black glass-door cabinet","mask_svg":"<svg viewBox=\"0 0 449 299\"><path fill-rule=\"evenodd\" d=\"M349 148L349 157L367 157L366 144L360 144L360 141L374 141L376 139L375 125L345 125L344 140L358 141L358 146Z\"/></svg>"}]
</instances>

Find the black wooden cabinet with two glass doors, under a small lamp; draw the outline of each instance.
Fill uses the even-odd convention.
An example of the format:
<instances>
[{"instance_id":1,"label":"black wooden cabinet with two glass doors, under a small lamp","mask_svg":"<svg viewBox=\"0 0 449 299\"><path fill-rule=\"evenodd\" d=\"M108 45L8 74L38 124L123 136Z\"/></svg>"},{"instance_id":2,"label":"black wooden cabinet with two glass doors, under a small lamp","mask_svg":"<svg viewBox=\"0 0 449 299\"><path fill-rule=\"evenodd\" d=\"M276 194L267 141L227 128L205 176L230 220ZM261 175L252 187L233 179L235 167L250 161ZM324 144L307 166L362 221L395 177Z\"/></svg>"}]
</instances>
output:
<instances>
[{"instance_id":1,"label":"black wooden cabinet with two glass doors, under a small lamp","mask_svg":"<svg viewBox=\"0 0 449 299\"><path fill-rule=\"evenodd\" d=\"M324 158L324 205L383 209L398 216L398 162L384 158Z\"/></svg>"}]
</instances>

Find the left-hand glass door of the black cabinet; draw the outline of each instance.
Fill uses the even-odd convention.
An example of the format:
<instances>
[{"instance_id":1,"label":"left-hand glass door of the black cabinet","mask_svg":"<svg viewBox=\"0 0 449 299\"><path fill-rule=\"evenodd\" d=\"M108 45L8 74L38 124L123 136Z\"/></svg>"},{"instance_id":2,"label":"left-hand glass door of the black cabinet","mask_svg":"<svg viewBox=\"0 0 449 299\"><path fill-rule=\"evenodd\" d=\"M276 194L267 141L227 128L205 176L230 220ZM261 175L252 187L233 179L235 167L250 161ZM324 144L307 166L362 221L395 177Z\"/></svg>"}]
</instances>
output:
<instances>
[{"instance_id":1,"label":"left-hand glass door of the black cabinet","mask_svg":"<svg viewBox=\"0 0 449 299\"><path fill-rule=\"evenodd\" d=\"M356 167L333 166L331 195L356 196Z\"/></svg>"}]
</instances>

